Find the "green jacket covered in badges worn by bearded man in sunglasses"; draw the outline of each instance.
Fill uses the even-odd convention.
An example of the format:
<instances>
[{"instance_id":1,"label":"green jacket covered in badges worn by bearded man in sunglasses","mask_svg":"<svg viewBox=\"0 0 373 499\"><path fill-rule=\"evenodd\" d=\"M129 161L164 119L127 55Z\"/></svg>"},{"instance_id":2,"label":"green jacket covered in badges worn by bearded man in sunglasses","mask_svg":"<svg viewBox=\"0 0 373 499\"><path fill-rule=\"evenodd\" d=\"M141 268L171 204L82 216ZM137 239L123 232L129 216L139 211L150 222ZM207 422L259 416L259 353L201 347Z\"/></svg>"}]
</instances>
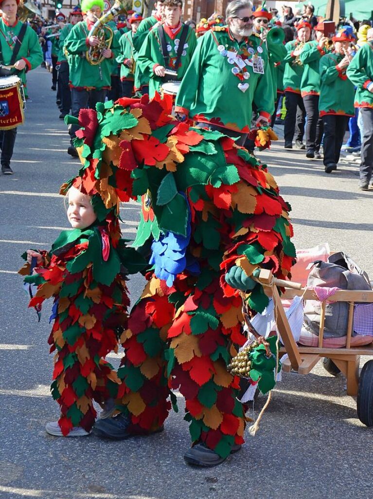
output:
<instances>
[{"instance_id":1,"label":"green jacket covered in badges worn by bearded man in sunglasses","mask_svg":"<svg viewBox=\"0 0 373 499\"><path fill-rule=\"evenodd\" d=\"M250 53L245 55L244 51L253 50L263 60L264 73L254 73L252 65L245 65L249 77L241 81L232 73L234 64L230 64L228 57L218 50L220 45L242 54L244 60L253 57ZM257 51L259 45L262 52ZM237 42L227 28L208 31L198 42L181 82L175 111L197 121L246 133L250 129L253 102L260 115L266 118L272 115L273 87L265 45L255 35Z\"/></svg>"}]
</instances>

